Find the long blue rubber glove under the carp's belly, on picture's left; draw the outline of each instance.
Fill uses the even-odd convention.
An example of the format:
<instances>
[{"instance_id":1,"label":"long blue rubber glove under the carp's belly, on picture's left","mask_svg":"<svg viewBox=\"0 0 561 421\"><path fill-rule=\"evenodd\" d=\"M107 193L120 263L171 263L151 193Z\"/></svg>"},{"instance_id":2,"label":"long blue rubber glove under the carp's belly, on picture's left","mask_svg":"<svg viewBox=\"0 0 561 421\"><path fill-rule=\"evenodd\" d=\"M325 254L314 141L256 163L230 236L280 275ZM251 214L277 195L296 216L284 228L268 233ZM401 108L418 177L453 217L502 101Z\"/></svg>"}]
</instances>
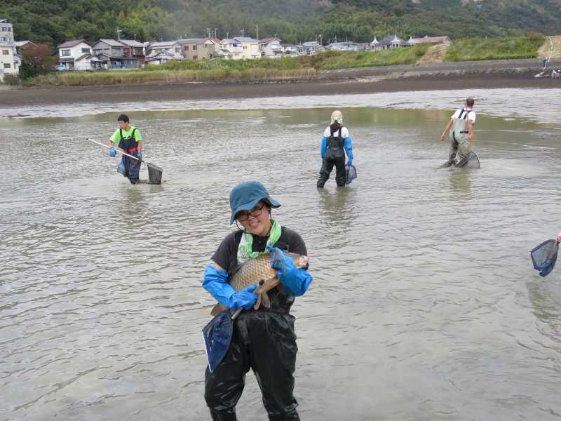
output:
<instances>
[{"instance_id":1,"label":"long blue rubber glove under the carp's belly, on picture's left","mask_svg":"<svg viewBox=\"0 0 561 421\"><path fill-rule=\"evenodd\" d=\"M240 307L250 309L257 301L257 294L253 291L257 288L257 284L248 286L244 290L236 292L228 283L228 272L216 269L215 265L207 265L203 276L203 288L207 290L212 297L224 307L236 310Z\"/></svg>"}]
</instances>

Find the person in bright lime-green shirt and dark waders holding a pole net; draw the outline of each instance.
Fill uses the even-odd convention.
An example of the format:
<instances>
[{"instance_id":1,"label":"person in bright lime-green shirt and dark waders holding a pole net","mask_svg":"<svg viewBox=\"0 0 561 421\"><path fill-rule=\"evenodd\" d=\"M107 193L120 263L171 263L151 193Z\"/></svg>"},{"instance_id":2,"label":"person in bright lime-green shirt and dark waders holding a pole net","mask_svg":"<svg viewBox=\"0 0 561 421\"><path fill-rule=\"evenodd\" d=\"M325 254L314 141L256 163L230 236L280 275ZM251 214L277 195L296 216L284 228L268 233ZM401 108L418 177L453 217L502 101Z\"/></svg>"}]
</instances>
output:
<instances>
[{"instance_id":1,"label":"person in bright lime-green shirt and dark waders holding a pole net","mask_svg":"<svg viewBox=\"0 0 561 421\"><path fill-rule=\"evenodd\" d=\"M138 159L123 155L117 171L128 178L130 184L137 184L140 175L140 159L142 159L142 135L140 134L140 130L130 126L129 122L126 114L121 114L117 117L119 128L109 139L109 156L111 156L111 158L116 156L117 151L114 146L115 144L118 144L117 146L123 149L123 152L136 156Z\"/></svg>"}]
</instances>

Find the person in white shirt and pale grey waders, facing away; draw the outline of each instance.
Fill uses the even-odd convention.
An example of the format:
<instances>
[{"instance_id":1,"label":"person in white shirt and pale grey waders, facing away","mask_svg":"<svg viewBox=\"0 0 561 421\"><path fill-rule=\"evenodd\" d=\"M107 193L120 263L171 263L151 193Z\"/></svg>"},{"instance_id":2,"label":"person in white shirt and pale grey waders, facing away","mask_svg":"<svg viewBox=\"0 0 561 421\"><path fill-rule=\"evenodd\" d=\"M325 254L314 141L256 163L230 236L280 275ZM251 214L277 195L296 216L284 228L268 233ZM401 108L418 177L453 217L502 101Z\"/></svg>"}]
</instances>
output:
<instances>
[{"instance_id":1,"label":"person in white shirt and pale grey waders, facing away","mask_svg":"<svg viewBox=\"0 0 561 421\"><path fill-rule=\"evenodd\" d=\"M444 140L446 132L452 128L450 130L450 154L445 166L456 164L456 154L458 154L459 159L463 159L471 151L473 124L475 123L474 103L473 98L467 98L464 107L454 112L444 131L442 131L442 135L440 135L440 140Z\"/></svg>"}]
</instances>

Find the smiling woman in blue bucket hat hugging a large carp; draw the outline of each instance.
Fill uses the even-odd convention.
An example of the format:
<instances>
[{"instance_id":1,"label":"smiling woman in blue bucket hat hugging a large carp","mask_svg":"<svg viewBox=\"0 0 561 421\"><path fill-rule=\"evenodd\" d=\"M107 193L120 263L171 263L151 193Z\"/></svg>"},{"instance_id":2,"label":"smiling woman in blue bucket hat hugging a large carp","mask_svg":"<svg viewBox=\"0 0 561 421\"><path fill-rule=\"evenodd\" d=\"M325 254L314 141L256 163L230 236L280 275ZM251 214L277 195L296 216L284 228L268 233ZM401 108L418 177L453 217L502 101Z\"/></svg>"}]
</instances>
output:
<instances>
[{"instance_id":1,"label":"smiling woman in blue bucket hat hugging a large carp","mask_svg":"<svg viewBox=\"0 0 561 421\"><path fill-rule=\"evenodd\" d=\"M260 182L234 187L230 224L236 221L243 230L228 234L205 268L203 288L219 305L247 310L235 320L226 356L205 373L205 401L215 421L236 421L236 403L250 368L269 420L299 420L292 394L298 348L290 307L295 296L306 293L312 277L302 237L271 219L271 209L279 206ZM268 259L262 267L264 255ZM264 281L261 286L259 281Z\"/></svg>"}]
</instances>

